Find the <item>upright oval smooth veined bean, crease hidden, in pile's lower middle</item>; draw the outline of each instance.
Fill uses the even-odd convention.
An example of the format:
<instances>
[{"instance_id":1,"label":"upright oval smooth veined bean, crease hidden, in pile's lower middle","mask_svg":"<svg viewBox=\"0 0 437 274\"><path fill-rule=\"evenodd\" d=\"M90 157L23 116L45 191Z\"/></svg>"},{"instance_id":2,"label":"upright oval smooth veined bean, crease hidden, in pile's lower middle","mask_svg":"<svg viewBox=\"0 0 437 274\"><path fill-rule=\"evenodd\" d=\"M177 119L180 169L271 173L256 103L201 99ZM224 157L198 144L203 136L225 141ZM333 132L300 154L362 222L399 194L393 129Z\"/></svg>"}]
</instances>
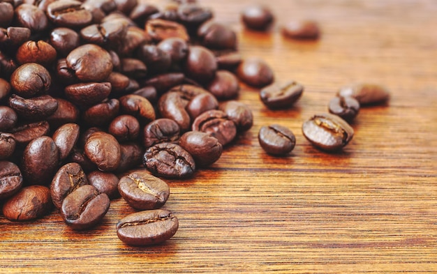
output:
<instances>
[{"instance_id":1,"label":"upright oval smooth veined bean, crease hidden, in pile's lower middle","mask_svg":"<svg viewBox=\"0 0 437 274\"><path fill-rule=\"evenodd\" d=\"M94 132L87 139L85 155L103 172L117 169L120 158L120 144L114 136L106 132Z\"/></svg>"}]
</instances>

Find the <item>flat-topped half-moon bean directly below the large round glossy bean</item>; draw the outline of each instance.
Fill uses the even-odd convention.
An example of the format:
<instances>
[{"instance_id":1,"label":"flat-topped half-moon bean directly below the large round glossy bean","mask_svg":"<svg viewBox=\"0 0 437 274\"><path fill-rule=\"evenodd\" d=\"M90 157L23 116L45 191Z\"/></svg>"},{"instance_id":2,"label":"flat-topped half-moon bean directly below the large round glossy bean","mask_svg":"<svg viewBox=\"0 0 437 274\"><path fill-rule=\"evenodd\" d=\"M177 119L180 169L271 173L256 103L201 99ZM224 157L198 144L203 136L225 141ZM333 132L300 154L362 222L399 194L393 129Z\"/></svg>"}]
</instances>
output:
<instances>
[{"instance_id":1,"label":"flat-topped half-moon bean directly below the large round glossy bean","mask_svg":"<svg viewBox=\"0 0 437 274\"><path fill-rule=\"evenodd\" d=\"M111 83L79 83L66 86L65 96L73 104L78 106L95 105L111 93Z\"/></svg>"}]
</instances>

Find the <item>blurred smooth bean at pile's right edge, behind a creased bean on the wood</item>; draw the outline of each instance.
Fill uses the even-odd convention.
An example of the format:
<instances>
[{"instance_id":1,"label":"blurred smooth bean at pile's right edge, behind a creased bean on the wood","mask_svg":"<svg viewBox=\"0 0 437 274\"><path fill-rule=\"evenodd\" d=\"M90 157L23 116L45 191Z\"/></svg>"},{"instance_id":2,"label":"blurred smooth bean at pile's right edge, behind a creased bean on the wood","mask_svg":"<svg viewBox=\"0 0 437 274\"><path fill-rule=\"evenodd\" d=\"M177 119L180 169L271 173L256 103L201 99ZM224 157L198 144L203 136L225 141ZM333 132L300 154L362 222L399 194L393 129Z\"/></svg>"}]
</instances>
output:
<instances>
[{"instance_id":1,"label":"blurred smooth bean at pile's right edge, behind a creased bean on the wood","mask_svg":"<svg viewBox=\"0 0 437 274\"><path fill-rule=\"evenodd\" d=\"M254 87L267 86L274 80L272 68L264 60L254 57L242 61L236 73L240 80Z\"/></svg>"}]
</instances>

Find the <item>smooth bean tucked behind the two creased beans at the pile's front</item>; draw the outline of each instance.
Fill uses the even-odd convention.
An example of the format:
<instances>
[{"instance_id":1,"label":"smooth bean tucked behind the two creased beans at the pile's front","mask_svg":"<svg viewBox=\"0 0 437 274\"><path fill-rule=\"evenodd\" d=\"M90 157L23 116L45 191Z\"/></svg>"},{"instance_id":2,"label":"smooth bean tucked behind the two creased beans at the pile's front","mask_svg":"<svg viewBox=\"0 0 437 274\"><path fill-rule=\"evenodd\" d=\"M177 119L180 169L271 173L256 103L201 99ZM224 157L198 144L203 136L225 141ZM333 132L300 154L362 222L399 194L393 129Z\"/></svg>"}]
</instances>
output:
<instances>
[{"instance_id":1,"label":"smooth bean tucked behind the two creased beans at the pile's front","mask_svg":"<svg viewBox=\"0 0 437 274\"><path fill-rule=\"evenodd\" d=\"M95 170L87 176L89 184L93 185L99 192L105 193L110 199L119 197L119 178L110 172Z\"/></svg>"}]
</instances>

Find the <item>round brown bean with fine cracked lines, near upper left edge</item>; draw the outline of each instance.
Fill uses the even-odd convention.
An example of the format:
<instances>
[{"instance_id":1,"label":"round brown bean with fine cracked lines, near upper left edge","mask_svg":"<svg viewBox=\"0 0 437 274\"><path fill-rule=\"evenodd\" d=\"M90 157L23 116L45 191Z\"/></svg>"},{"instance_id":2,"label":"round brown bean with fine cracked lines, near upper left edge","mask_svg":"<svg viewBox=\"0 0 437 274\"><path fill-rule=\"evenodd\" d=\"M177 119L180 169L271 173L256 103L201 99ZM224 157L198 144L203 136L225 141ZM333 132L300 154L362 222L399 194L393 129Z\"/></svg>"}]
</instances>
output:
<instances>
[{"instance_id":1,"label":"round brown bean with fine cracked lines, near upper left edge","mask_svg":"<svg viewBox=\"0 0 437 274\"><path fill-rule=\"evenodd\" d=\"M24 98L44 93L52 84L50 73L38 63L25 63L10 76L15 93Z\"/></svg>"}]
</instances>

